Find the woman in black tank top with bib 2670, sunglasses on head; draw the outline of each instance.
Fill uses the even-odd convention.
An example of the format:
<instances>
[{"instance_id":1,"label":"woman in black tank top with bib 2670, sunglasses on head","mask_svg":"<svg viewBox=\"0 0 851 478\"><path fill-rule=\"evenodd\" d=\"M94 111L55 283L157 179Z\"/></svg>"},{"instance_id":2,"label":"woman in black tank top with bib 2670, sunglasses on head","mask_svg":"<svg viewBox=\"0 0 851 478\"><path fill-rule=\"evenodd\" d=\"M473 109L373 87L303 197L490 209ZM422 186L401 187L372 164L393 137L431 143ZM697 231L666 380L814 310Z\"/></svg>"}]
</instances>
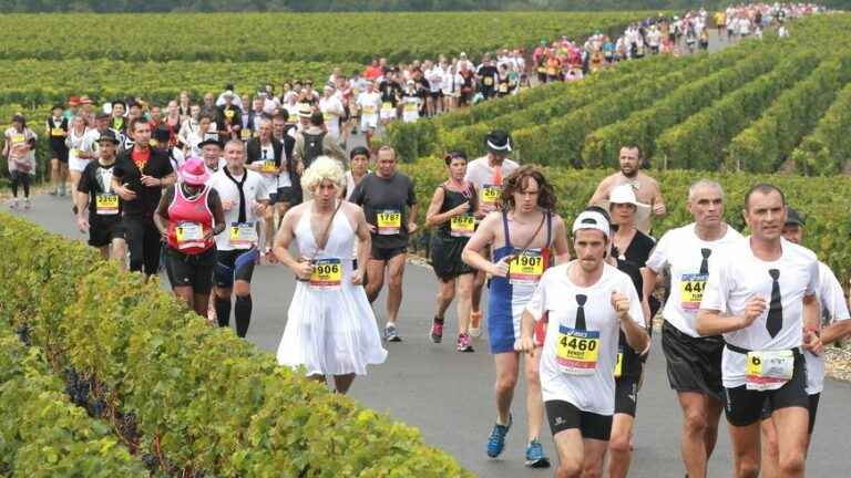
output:
<instances>
[{"instance_id":1,"label":"woman in black tank top with bib 2670, sunglasses on head","mask_svg":"<svg viewBox=\"0 0 851 478\"><path fill-rule=\"evenodd\" d=\"M473 235L478 209L475 187L464 180L466 155L450 152L445 157L449 179L434 190L426 227L437 228L431 236L431 264L440 281L438 312L431 324L431 341L443 340L443 320L458 287L458 352L473 352L470 337L470 302L474 271L461 260L461 252Z\"/></svg>"}]
</instances>

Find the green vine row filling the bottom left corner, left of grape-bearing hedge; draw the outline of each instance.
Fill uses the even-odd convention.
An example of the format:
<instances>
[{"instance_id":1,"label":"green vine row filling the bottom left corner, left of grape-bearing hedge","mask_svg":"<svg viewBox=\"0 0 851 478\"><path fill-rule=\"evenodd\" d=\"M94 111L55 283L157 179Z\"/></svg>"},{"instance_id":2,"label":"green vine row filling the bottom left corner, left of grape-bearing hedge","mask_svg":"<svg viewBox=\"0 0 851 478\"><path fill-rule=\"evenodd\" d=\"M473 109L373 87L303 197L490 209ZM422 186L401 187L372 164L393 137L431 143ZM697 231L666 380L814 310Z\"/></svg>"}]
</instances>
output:
<instances>
[{"instance_id":1,"label":"green vine row filling the bottom left corner, left of grape-bearing hedge","mask_svg":"<svg viewBox=\"0 0 851 478\"><path fill-rule=\"evenodd\" d=\"M0 318L12 311L3 306ZM69 402L39 347L0 323L0 474L11 477L142 477L106 423Z\"/></svg>"}]
</instances>

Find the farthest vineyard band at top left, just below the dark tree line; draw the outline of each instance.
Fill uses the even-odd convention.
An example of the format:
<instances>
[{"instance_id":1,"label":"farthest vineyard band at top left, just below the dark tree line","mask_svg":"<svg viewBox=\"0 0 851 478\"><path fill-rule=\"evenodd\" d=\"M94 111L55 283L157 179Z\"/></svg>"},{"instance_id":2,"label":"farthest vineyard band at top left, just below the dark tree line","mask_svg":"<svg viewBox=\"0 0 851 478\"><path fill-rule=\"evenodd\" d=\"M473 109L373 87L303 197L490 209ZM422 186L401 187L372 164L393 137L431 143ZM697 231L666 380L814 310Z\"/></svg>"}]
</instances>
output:
<instances>
[{"instance_id":1,"label":"farthest vineyard band at top left, just below the dark tree line","mask_svg":"<svg viewBox=\"0 0 851 478\"><path fill-rule=\"evenodd\" d=\"M645 13L646 14L646 13ZM586 37L643 15L606 13L4 14L8 60L391 63L438 54L478 55L541 38ZM120 35L105 35L107 29ZM221 34L221 32L226 32ZM440 34L439 32L444 32ZM445 34L451 32L451 34ZM473 58L473 56L471 56ZM330 72L328 72L330 73ZM163 77L167 84L176 84Z\"/></svg>"}]
</instances>

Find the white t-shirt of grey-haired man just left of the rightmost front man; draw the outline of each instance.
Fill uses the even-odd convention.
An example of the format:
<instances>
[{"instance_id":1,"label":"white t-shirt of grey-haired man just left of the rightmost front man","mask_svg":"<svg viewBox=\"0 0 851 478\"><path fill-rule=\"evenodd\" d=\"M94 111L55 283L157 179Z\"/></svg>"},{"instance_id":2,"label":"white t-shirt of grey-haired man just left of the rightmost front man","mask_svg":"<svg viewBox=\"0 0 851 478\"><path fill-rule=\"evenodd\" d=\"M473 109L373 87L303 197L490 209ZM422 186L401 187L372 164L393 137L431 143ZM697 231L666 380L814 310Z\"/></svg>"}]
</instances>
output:
<instances>
[{"instance_id":1,"label":"white t-shirt of grey-haired man just left of the rightmost front man","mask_svg":"<svg viewBox=\"0 0 851 478\"><path fill-rule=\"evenodd\" d=\"M659 239L646 266L656 273L670 268L670 297L665 303L663 316L678 331L693 337L700 336L696 326L697 310L709 278L708 266L717 257L715 251L719 247L740 239L741 235L727 226L727 232L722 238L705 241L695 233L694 222L671 229ZM701 274L704 250L709 252L706 273Z\"/></svg>"}]
</instances>

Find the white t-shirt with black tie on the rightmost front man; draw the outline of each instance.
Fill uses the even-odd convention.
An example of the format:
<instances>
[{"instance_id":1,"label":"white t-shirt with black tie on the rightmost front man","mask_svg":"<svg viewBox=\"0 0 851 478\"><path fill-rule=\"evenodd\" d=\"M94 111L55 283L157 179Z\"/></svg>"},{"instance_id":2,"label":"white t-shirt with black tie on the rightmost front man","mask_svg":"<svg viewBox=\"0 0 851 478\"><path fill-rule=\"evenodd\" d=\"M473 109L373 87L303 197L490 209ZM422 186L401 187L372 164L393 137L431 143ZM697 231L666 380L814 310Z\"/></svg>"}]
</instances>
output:
<instances>
[{"instance_id":1,"label":"white t-shirt with black tie on the rightmost front man","mask_svg":"<svg viewBox=\"0 0 851 478\"><path fill-rule=\"evenodd\" d=\"M803 342L803 298L819 289L819 262L811 250L781 239L780 259L767 262L753 256L750 237L730 243L718 251L718 260L709 267L709 281L704 290L700 309L737 315L752 295L766 300L769 306L749 326L724 334L725 342L749 351L780 351L801 346ZM766 329L771 301L772 279L769 270L780 271L778 283L783 311L780 332L772 339ZM745 385L747 355L724 350L721 373L724 386Z\"/></svg>"}]
</instances>

